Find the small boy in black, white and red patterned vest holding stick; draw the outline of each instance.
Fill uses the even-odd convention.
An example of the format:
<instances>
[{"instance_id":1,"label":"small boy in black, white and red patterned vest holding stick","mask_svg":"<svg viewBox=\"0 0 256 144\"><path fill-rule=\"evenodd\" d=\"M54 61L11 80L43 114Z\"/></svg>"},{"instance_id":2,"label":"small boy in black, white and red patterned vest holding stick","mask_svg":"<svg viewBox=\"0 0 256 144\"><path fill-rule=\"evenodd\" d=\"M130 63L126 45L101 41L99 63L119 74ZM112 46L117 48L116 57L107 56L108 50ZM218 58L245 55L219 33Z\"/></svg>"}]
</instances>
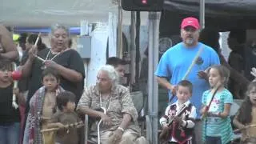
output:
<instances>
[{"instance_id":1,"label":"small boy in black, white and red patterned vest holding stick","mask_svg":"<svg viewBox=\"0 0 256 144\"><path fill-rule=\"evenodd\" d=\"M167 106L165 115L160 118L162 133L160 138L172 144L192 143L196 108L190 103L193 85L182 80L177 86L177 102Z\"/></svg>"}]
</instances>

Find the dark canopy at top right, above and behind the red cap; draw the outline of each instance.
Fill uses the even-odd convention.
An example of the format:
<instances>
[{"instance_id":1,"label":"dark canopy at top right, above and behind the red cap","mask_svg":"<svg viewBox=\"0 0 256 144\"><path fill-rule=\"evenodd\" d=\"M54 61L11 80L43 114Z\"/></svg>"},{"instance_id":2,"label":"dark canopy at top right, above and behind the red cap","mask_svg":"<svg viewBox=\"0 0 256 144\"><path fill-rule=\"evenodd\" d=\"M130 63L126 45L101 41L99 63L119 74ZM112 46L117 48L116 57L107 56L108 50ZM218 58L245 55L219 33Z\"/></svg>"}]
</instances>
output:
<instances>
[{"instance_id":1,"label":"dark canopy at top right, above and behind the red cap","mask_svg":"<svg viewBox=\"0 0 256 144\"><path fill-rule=\"evenodd\" d=\"M256 29L256 0L206 0L205 26L229 31ZM182 18L199 18L200 0L165 0L160 20L160 36L179 34Z\"/></svg>"}]
</instances>

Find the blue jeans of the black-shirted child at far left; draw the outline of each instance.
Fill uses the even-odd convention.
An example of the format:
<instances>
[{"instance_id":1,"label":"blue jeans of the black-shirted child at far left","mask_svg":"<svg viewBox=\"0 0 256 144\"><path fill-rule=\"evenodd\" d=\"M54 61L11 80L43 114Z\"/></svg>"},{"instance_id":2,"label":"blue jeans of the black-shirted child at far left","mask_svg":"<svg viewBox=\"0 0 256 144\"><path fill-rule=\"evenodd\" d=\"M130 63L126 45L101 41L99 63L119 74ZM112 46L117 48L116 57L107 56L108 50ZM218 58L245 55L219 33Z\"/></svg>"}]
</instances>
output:
<instances>
[{"instance_id":1,"label":"blue jeans of the black-shirted child at far left","mask_svg":"<svg viewBox=\"0 0 256 144\"><path fill-rule=\"evenodd\" d=\"M0 144L18 144L19 130L19 122L4 126L0 125Z\"/></svg>"}]
</instances>

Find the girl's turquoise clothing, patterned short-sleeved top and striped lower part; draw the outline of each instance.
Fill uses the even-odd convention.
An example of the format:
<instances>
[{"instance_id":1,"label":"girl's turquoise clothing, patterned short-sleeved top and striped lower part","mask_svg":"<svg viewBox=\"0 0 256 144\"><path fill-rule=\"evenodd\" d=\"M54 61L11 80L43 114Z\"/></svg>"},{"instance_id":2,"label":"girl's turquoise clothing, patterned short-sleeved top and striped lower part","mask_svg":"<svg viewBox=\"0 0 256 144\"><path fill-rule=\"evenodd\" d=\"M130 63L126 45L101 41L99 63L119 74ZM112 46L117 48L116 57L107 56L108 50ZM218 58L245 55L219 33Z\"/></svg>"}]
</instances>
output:
<instances>
[{"instance_id":1,"label":"girl's turquoise clothing, patterned short-sleeved top and striped lower part","mask_svg":"<svg viewBox=\"0 0 256 144\"><path fill-rule=\"evenodd\" d=\"M209 106L211 98L212 94L210 93L210 90L207 90L202 95L202 104L204 106ZM224 105L232 103L232 94L229 90L224 89L214 95L208 111L213 114L218 114L219 112L222 113L224 111ZM205 137L205 134L211 137L221 137L222 143L230 142L230 140L233 138L233 130L229 116L227 118L207 116L205 122L203 128L203 137Z\"/></svg>"}]
</instances>

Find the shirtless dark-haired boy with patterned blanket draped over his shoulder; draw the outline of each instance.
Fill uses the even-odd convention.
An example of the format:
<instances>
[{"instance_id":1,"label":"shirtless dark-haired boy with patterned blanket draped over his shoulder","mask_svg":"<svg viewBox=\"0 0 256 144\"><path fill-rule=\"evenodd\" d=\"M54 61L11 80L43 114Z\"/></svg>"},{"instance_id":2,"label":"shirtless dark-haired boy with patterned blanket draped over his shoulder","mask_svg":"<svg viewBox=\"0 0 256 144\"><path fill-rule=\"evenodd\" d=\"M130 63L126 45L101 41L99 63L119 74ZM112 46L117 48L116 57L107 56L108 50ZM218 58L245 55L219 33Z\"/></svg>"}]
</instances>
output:
<instances>
[{"instance_id":1,"label":"shirtless dark-haired boy with patterned blanket draped over his shoulder","mask_svg":"<svg viewBox=\"0 0 256 144\"><path fill-rule=\"evenodd\" d=\"M56 111L56 96L64 91L59 86L58 71L47 67L42 72L42 87L40 87L30 99L30 110L26 118L23 144L50 143L54 133L42 136L40 132L46 129L50 118Z\"/></svg>"}]
</instances>

